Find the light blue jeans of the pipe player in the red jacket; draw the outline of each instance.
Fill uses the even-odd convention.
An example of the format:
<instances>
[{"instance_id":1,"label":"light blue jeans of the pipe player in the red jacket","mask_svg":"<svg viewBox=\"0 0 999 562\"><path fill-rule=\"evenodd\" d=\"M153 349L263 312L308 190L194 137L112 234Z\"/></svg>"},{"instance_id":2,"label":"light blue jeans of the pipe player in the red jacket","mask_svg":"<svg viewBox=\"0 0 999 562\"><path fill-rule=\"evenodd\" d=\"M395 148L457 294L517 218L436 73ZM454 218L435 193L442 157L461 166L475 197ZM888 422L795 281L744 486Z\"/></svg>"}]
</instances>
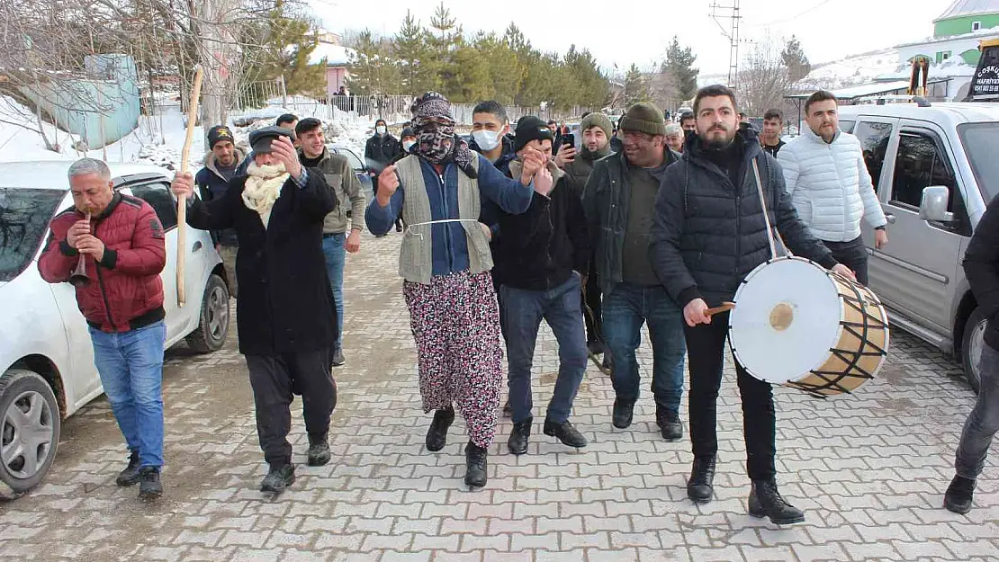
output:
<instances>
[{"instance_id":1,"label":"light blue jeans of the pipe player in the red jacket","mask_svg":"<svg viewBox=\"0 0 999 562\"><path fill-rule=\"evenodd\" d=\"M163 466L163 345L167 326L155 323L119 333L93 327L94 364L111 411L140 466Z\"/></svg>"}]
</instances>

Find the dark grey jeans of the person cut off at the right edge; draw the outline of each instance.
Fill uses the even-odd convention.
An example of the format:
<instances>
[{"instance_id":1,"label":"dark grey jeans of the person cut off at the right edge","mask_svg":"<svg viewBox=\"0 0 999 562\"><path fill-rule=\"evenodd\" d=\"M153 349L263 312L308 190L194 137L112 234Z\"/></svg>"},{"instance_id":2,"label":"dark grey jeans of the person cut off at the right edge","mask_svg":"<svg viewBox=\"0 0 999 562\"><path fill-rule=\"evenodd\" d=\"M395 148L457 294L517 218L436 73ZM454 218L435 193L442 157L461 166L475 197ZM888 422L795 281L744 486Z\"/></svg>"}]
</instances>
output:
<instances>
[{"instance_id":1,"label":"dark grey jeans of the person cut off at the right edge","mask_svg":"<svg viewBox=\"0 0 999 562\"><path fill-rule=\"evenodd\" d=\"M954 468L958 476L974 480L982 473L992 437L999 431L999 351L982 345L978 400L964 422Z\"/></svg>"}]
</instances>

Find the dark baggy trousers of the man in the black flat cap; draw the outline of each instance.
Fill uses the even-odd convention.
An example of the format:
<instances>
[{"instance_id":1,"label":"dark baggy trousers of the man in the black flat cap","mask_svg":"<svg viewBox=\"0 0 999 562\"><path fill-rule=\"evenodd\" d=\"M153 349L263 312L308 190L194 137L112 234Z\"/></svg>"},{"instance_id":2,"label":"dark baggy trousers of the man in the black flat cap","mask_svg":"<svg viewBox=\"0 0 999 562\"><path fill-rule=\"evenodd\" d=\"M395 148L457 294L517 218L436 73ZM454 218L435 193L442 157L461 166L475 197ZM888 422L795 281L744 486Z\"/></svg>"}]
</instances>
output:
<instances>
[{"instance_id":1,"label":"dark baggy trousers of the man in the black flat cap","mask_svg":"<svg viewBox=\"0 0 999 562\"><path fill-rule=\"evenodd\" d=\"M257 436L269 464L292 461L288 432L292 430L293 394L302 395L311 441L325 438L330 430L330 416L337 405L330 357L330 349L246 356L257 409Z\"/></svg>"}]
</instances>

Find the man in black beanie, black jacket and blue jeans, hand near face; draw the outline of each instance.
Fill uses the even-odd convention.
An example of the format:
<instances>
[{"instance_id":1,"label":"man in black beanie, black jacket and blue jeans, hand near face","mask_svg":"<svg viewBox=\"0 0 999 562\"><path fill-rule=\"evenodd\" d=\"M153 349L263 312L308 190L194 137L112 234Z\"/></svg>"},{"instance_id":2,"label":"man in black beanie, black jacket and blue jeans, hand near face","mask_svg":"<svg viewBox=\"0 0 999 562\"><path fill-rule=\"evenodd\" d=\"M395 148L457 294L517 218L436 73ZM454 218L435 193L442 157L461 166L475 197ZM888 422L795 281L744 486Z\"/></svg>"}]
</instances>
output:
<instances>
[{"instance_id":1,"label":"man in black beanie, black jacket and blue jeans, hand near face","mask_svg":"<svg viewBox=\"0 0 999 562\"><path fill-rule=\"evenodd\" d=\"M519 154L536 149L545 158L551 131L540 119L520 118L513 148ZM520 161L510 163L519 177ZM572 447L586 438L568 421L572 400L586 370L586 334L579 302L581 275L589 262L586 218L578 195L568 189L564 173L547 162L547 173L535 177L530 207L521 215L500 215L500 236L493 251L500 274L501 321L509 362L509 406L513 420L507 445L512 454L527 451L532 421L530 366L541 319L558 339L558 378L544 416L544 434Z\"/></svg>"}]
</instances>

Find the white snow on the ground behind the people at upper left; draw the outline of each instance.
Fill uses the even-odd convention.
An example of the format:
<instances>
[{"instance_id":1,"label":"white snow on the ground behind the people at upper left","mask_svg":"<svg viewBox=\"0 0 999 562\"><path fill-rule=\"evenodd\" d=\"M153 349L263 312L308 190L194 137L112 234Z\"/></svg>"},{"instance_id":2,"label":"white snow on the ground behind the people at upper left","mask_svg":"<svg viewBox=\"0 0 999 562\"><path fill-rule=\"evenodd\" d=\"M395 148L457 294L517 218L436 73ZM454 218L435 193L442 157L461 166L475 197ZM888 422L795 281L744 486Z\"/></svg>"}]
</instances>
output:
<instances>
[{"instance_id":1,"label":"white snow on the ground behind the people at upper left","mask_svg":"<svg viewBox=\"0 0 999 562\"><path fill-rule=\"evenodd\" d=\"M326 124L329 142L346 145L363 156L365 143L374 130L374 120L341 112L336 108L333 111L331 120L328 106L299 103L292 107L272 106L264 110L234 114L230 121L235 122L250 113L259 118L246 127L233 127L237 145L248 146L252 131L273 125L274 118L281 114L315 116ZM177 107L168 108L161 115L140 116L139 126L130 134L103 149L88 152L77 150L82 148L78 136L43 123L43 131L49 142L58 145L59 150L52 151L46 148L42 136L38 134L37 118L31 110L9 97L0 96L0 162L75 160L87 156L107 162L145 162L175 171L180 167L181 151L187 134L185 121L185 116ZM191 173L201 168L205 153L205 130L197 126L194 129L188 164Z\"/></svg>"}]
</instances>

